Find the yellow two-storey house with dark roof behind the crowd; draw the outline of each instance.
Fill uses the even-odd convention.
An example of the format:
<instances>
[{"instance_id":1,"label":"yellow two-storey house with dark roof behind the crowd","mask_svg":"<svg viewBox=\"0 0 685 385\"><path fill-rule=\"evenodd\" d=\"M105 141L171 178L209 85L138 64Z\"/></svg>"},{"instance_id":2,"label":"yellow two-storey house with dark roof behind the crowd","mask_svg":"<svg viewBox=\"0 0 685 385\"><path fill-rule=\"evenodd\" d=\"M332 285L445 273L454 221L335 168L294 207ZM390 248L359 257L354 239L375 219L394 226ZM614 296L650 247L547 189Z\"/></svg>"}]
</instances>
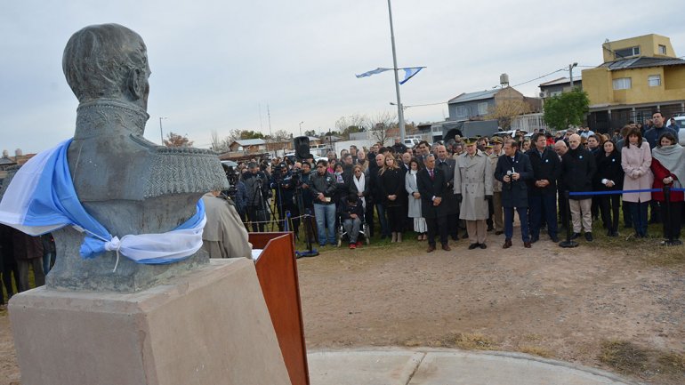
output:
<instances>
[{"instance_id":1,"label":"yellow two-storey house with dark roof behind the crowd","mask_svg":"<svg viewBox=\"0 0 685 385\"><path fill-rule=\"evenodd\" d=\"M650 34L607 41L602 56L599 67L582 72L593 131L644 123L655 109L664 116L685 112L685 60L676 57L671 39Z\"/></svg>"}]
</instances>

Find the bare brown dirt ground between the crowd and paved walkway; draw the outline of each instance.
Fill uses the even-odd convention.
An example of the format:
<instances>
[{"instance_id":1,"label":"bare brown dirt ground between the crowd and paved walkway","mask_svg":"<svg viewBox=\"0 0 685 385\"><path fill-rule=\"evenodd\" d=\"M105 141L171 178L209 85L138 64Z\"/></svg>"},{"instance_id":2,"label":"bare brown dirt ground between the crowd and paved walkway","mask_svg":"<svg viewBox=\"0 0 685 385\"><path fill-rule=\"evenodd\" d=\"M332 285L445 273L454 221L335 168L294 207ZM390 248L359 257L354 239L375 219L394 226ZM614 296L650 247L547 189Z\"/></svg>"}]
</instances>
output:
<instances>
[{"instance_id":1,"label":"bare brown dirt ground between the crowd and paved walkway","mask_svg":"<svg viewBox=\"0 0 685 385\"><path fill-rule=\"evenodd\" d=\"M517 229L518 230L518 229ZM414 239L298 260L309 349L455 347L520 351L685 383L685 246L595 236L525 249L490 233L488 249L425 253ZM599 238L599 239L597 239ZM0 312L0 384L18 383Z\"/></svg>"}]
</instances>

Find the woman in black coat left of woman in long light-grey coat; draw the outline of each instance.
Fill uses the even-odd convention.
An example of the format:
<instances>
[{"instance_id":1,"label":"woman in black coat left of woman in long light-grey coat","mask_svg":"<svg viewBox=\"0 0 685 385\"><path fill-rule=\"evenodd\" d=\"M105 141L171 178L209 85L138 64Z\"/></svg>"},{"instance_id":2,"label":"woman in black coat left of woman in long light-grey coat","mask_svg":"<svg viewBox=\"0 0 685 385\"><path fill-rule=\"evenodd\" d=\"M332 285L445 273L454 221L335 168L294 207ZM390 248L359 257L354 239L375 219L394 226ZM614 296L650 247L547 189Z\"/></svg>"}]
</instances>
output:
<instances>
[{"instance_id":1,"label":"woman in black coat left of woman in long light-grey coat","mask_svg":"<svg viewBox=\"0 0 685 385\"><path fill-rule=\"evenodd\" d=\"M391 154L385 156L385 164L378 173L380 174L378 188L385 212L388 214L388 223L392 233L391 242L402 242L402 227L407 217L404 205L405 197L407 197L404 173L399 169L395 157Z\"/></svg>"}]
</instances>

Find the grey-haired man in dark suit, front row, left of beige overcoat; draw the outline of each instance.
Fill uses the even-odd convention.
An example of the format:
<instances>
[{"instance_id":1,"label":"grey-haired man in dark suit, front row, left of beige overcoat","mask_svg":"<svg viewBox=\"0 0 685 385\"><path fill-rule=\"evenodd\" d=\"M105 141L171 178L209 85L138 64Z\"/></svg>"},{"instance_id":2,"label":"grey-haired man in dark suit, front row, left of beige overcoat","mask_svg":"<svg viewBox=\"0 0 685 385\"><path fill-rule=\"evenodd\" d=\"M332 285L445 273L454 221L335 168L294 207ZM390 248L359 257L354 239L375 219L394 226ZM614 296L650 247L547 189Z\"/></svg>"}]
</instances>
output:
<instances>
[{"instance_id":1,"label":"grey-haired man in dark suit, front row, left of beige overcoat","mask_svg":"<svg viewBox=\"0 0 685 385\"><path fill-rule=\"evenodd\" d=\"M435 250L435 235L439 232L442 250L452 250L447 245L447 214L443 197L447 194L445 173L435 166L435 156L425 157L426 168L416 175L416 183L421 194L421 213L428 225L428 250Z\"/></svg>"}]
</instances>

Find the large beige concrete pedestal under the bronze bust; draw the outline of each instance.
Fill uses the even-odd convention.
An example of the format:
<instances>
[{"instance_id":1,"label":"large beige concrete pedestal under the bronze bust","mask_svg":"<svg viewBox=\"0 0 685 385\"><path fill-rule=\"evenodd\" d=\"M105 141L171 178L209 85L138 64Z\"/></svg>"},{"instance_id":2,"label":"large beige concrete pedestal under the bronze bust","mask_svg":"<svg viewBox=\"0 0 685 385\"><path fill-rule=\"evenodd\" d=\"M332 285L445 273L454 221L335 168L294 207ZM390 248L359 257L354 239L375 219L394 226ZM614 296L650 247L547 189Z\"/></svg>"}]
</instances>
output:
<instances>
[{"instance_id":1,"label":"large beige concrete pedestal under the bronze bust","mask_svg":"<svg viewBox=\"0 0 685 385\"><path fill-rule=\"evenodd\" d=\"M12 297L22 385L289 385L252 261L212 260L140 293Z\"/></svg>"}]
</instances>

